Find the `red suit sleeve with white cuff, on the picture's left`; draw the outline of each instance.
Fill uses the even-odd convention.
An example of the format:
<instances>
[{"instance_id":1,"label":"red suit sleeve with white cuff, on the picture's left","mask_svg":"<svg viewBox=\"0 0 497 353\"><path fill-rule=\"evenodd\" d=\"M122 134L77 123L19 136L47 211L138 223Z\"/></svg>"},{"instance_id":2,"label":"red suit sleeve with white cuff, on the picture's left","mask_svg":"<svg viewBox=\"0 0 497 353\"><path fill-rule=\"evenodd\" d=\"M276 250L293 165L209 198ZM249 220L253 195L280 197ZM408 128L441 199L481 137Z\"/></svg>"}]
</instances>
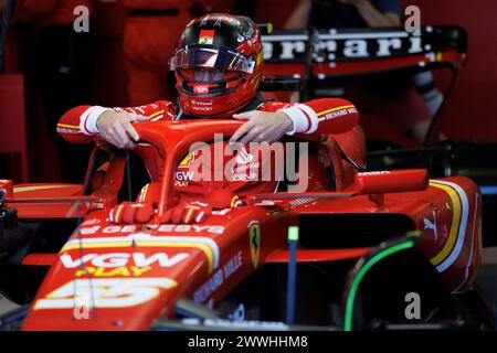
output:
<instances>
[{"instance_id":1,"label":"red suit sleeve with white cuff, on the picture's left","mask_svg":"<svg viewBox=\"0 0 497 353\"><path fill-rule=\"evenodd\" d=\"M98 133L96 126L98 117L107 111L127 111L130 121L157 121L173 119L173 108L170 101L158 100L139 107L105 108L101 106L78 106L62 116L57 124L57 132L73 143L87 143Z\"/></svg>"}]
</instances>

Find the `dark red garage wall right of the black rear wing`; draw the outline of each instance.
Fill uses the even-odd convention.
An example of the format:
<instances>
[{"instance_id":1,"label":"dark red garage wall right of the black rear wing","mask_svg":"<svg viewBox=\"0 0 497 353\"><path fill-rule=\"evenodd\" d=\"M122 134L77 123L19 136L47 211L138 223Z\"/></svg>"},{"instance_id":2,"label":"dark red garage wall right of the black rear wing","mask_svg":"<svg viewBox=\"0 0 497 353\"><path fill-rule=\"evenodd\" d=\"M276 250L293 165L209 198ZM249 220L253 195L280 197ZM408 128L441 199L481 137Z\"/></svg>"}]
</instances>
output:
<instances>
[{"instance_id":1,"label":"dark red garage wall right of the black rear wing","mask_svg":"<svg viewBox=\"0 0 497 353\"><path fill-rule=\"evenodd\" d=\"M409 0L423 24L457 24L469 35L468 61L448 101L443 131L450 138L497 141L497 1Z\"/></svg>"}]
</instances>

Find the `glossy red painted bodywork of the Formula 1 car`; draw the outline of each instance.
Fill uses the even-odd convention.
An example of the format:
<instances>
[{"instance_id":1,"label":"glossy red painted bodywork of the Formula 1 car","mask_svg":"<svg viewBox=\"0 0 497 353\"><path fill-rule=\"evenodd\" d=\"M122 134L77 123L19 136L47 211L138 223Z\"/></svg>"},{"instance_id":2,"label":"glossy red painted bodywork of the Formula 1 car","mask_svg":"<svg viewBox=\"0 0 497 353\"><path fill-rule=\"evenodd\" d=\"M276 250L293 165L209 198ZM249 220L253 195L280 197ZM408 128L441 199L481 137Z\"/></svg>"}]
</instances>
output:
<instances>
[{"instance_id":1,"label":"glossy red painted bodywork of the Formula 1 car","mask_svg":"<svg viewBox=\"0 0 497 353\"><path fill-rule=\"evenodd\" d=\"M334 160L337 175L337 192L325 186L329 176L321 162L326 164L326 158L320 161L313 154L309 159L311 179L308 191L321 199L303 202L303 199L296 200L299 194L295 194L294 199L263 202L255 200L257 195L246 194L240 196L250 201L248 205L226 208L222 214L208 217L202 224L159 224L160 214L171 206L175 194L173 171L190 143L212 139L214 132L229 136L240 124L190 120L137 126L140 139L155 145L166 156L157 217L147 225L116 225L107 222L123 181L118 176L119 172L123 174L123 161L112 161L108 165L110 175L91 195L101 202L89 205L93 210L85 211L84 223L61 249L22 329L147 330L156 318L172 315L175 302L179 298L189 297L201 303L212 300L215 303L257 267L265 263L286 260L287 229L290 225L298 225L302 214L404 214L423 232L419 250L437 266L447 288L464 291L472 282L478 266L480 244L482 201L476 184L467 178L447 178L431 181L430 186L424 189L424 171L357 175L338 157L334 131L329 131L329 136L302 138L321 143L329 151L327 154ZM357 129L345 135L351 138L341 138L350 143L343 146L343 150L352 151L357 162L362 163L363 136L357 133ZM393 189L385 185L393 185ZM82 196L81 191L81 188L72 185L40 191L36 195L15 194L15 199L77 197ZM374 197L366 194L369 192L374 192ZM334 199L337 195L340 197ZM21 217L34 214L50 216L45 212L34 211L45 207L43 204L11 205L18 207ZM52 211L57 216L62 214L56 207ZM257 222L255 225L254 221ZM431 227L432 223L436 225ZM252 256L256 252L251 253L250 236L256 234L257 227L261 236L258 257ZM367 248L302 250L297 257L299 261L329 261L360 257L367 252ZM85 267L74 263L82 255L86 260ZM24 260L24 264L35 263L50 261L39 256ZM74 309L74 303L81 298L73 296L73 280L76 279L76 285L82 286L89 277L93 297L87 299L91 302L95 300L97 308L89 312L88 319L78 320L76 318L81 318L82 308ZM208 281L210 286L204 286ZM67 291L61 293L64 286ZM78 293L85 291L78 287ZM53 308L55 304L63 308Z\"/></svg>"}]
</instances>

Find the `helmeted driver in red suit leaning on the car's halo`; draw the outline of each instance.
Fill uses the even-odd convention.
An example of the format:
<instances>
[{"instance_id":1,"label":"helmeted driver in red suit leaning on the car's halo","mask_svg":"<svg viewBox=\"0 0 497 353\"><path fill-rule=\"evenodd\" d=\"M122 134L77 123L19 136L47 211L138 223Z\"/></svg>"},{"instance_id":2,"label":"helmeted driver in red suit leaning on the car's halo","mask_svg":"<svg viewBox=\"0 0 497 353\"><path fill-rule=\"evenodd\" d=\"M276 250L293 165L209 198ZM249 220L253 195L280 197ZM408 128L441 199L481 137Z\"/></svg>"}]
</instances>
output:
<instances>
[{"instance_id":1,"label":"helmeted driver in red suit leaning on the car's halo","mask_svg":"<svg viewBox=\"0 0 497 353\"><path fill-rule=\"evenodd\" d=\"M207 14L192 20L178 41L170 60L170 69L177 79L178 104L157 100L128 108L80 106L61 118L59 133L71 142L84 143L102 138L117 148L133 149L139 140L134 124L234 118L246 122L231 137L230 143L271 143L284 135L322 133L329 125L337 133L345 132L356 126L359 119L355 106L345 99L321 98L287 104L265 101L257 95L263 79L261 31L245 17ZM154 184L160 180L158 158L150 153L141 153L140 157ZM212 195L213 184L205 184L209 188L203 190ZM244 188L254 188L257 182L245 180L216 185L237 192ZM188 185L182 186L189 189ZM139 201L146 200L140 196ZM124 213L119 212L120 215ZM135 216L127 221L130 220L136 221ZM183 222L188 223L186 220Z\"/></svg>"}]
</instances>

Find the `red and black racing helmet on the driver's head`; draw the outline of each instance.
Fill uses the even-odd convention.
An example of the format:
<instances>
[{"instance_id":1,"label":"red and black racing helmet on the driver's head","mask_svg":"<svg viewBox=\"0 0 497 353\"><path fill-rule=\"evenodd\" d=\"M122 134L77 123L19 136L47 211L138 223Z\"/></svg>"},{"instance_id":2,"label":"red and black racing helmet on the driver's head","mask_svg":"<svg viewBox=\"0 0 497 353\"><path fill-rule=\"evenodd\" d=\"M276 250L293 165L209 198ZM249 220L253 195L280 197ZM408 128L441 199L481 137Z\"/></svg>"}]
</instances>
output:
<instances>
[{"instance_id":1,"label":"red and black racing helmet on the driver's head","mask_svg":"<svg viewBox=\"0 0 497 353\"><path fill-rule=\"evenodd\" d=\"M263 79L260 28L246 17L192 20L169 62L184 114L228 118L248 104Z\"/></svg>"}]
</instances>

